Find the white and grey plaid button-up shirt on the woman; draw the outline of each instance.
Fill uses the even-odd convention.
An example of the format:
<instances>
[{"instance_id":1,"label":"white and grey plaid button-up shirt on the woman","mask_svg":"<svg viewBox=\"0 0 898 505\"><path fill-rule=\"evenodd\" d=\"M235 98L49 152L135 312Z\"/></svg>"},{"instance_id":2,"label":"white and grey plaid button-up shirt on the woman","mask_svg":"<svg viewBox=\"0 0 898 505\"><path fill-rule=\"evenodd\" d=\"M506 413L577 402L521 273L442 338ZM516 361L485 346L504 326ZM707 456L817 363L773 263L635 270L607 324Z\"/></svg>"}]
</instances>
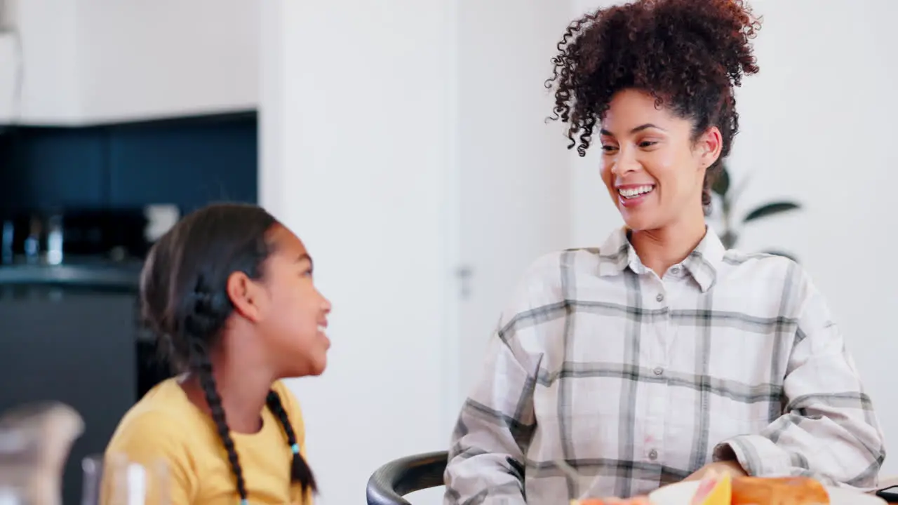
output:
<instances>
[{"instance_id":1,"label":"white and grey plaid button-up shirt on the woman","mask_svg":"<svg viewBox=\"0 0 898 505\"><path fill-rule=\"evenodd\" d=\"M709 230L659 278L621 229L524 276L462 407L445 502L626 498L728 457L748 474L872 487L885 450L797 263L726 251Z\"/></svg>"}]
</instances>

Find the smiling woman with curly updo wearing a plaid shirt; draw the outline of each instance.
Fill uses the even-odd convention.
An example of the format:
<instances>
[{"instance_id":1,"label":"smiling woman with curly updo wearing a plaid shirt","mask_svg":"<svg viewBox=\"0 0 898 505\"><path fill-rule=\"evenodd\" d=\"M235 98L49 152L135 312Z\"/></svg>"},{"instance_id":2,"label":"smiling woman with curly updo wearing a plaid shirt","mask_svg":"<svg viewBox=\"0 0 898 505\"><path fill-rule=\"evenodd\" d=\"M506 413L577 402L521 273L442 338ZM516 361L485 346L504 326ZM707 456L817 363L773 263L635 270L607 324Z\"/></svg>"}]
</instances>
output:
<instances>
[{"instance_id":1,"label":"smiling woman with curly updo wearing a plaid shirt","mask_svg":"<svg viewBox=\"0 0 898 505\"><path fill-rule=\"evenodd\" d=\"M705 225L758 28L739 0L638 0L569 26L555 119L580 155L600 145L626 226L525 273L453 433L447 503L627 498L712 468L876 483L882 433L823 296Z\"/></svg>"}]
</instances>

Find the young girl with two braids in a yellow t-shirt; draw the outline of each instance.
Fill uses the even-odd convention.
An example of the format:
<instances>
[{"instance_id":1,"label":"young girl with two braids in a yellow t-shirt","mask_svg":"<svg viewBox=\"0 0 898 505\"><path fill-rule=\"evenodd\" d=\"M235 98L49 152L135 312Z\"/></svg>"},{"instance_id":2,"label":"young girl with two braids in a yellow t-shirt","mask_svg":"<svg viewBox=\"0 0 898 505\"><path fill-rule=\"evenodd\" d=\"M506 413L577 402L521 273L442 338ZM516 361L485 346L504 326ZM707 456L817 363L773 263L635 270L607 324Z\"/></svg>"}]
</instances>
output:
<instances>
[{"instance_id":1,"label":"young girl with two braids in a yellow t-shirt","mask_svg":"<svg viewBox=\"0 0 898 505\"><path fill-rule=\"evenodd\" d=\"M182 375L136 403L106 450L107 462L164 466L146 503L312 502L303 415L279 380L326 366L330 302L312 271L303 243L249 205L202 208L154 244L143 315Z\"/></svg>"}]
</instances>

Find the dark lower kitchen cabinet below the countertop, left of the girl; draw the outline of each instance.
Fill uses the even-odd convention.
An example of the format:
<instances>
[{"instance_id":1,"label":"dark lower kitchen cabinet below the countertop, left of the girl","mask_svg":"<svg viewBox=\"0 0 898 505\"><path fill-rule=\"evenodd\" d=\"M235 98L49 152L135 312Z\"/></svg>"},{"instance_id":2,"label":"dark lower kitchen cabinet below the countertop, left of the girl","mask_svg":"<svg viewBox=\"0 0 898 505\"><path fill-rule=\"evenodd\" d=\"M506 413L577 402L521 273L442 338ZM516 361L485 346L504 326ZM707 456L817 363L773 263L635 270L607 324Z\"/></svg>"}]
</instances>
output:
<instances>
[{"instance_id":1,"label":"dark lower kitchen cabinet below the countertop, left of the girl","mask_svg":"<svg viewBox=\"0 0 898 505\"><path fill-rule=\"evenodd\" d=\"M63 503L81 502L81 460L101 453L136 401L135 295L0 285L0 411L57 400L83 417Z\"/></svg>"}]
</instances>

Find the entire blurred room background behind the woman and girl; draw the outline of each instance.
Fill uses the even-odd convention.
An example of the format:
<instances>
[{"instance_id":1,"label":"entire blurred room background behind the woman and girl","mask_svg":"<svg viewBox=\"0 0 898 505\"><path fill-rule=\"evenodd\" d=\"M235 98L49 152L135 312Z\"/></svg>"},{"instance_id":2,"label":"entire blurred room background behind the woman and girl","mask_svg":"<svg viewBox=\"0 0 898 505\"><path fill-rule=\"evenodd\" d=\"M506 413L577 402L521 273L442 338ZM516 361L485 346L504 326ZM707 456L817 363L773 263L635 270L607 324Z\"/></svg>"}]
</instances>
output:
<instances>
[{"instance_id":1,"label":"entire blurred room background behind the woman and girl","mask_svg":"<svg viewBox=\"0 0 898 505\"><path fill-rule=\"evenodd\" d=\"M621 225L599 151L544 121L556 43L607 4L0 2L0 411L84 416L66 505L81 458L165 377L136 321L146 249L211 201L292 227L333 302L327 372L291 382L319 502L361 503L377 466L445 449L524 268ZM752 4L762 70L709 224L810 270L898 454L898 3Z\"/></svg>"}]
</instances>

